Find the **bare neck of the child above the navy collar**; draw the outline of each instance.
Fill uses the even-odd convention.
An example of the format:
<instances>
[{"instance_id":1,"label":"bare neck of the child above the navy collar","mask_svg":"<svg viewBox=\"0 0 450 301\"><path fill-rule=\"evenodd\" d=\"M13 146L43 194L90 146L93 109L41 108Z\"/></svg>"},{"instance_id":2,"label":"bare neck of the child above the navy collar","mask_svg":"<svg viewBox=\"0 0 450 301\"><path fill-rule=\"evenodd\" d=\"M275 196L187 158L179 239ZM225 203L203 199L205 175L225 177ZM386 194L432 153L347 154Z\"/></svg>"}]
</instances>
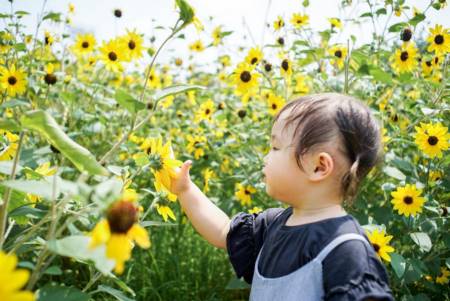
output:
<instances>
[{"instance_id":1,"label":"bare neck of the child above the navy collar","mask_svg":"<svg viewBox=\"0 0 450 301\"><path fill-rule=\"evenodd\" d=\"M321 207L292 206L292 214L287 219L286 226L308 224L344 215L347 215L347 212L340 204L324 204Z\"/></svg>"}]
</instances>

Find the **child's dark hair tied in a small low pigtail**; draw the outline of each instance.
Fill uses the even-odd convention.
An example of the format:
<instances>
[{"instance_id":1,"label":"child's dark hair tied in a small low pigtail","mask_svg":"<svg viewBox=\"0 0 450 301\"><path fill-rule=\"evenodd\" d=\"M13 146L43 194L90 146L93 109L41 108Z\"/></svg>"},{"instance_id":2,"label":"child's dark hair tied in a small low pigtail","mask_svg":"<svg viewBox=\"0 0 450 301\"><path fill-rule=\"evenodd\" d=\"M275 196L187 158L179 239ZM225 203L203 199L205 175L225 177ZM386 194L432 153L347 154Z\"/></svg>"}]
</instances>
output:
<instances>
[{"instance_id":1,"label":"child's dark hair tied in a small low pigtail","mask_svg":"<svg viewBox=\"0 0 450 301\"><path fill-rule=\"evenodd\" d=\"M295 125L295 157L302 171L300 158L314 147L336 138L343 146L341 152L348 158L350 168L340 180L341 195L352 204L359 184L375 165L381 163L383 156L380 125L370 108L343 94L312 94L287 103L274 122L287 109L292 110L285 127Z\"/></svg>"}]
</instances>

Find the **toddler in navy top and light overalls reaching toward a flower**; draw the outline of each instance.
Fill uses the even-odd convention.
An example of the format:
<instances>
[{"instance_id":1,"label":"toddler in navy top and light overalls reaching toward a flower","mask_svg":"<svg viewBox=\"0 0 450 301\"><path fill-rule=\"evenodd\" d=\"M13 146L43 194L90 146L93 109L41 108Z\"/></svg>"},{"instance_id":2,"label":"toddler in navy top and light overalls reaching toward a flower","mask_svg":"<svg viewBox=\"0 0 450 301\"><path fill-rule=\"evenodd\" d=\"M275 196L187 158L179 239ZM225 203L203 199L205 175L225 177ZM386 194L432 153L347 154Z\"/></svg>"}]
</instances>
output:
<instances>
[{"instance_id":1,"label":"toddler in navy top and light overalls reaching toward a flower","mask_svg":"<svg viewBox=\"0 0 450 301\"><path fill-rule=\"evenodd\" d=\"M195 229L227 249L250 300L394 300L386 269L342 207L381 158L370 109L337 93L301 97L275 117L264 158L266 191L287 209L231 220L191 182L190 160L171 190Z\"/></svg>"}]
</instances>

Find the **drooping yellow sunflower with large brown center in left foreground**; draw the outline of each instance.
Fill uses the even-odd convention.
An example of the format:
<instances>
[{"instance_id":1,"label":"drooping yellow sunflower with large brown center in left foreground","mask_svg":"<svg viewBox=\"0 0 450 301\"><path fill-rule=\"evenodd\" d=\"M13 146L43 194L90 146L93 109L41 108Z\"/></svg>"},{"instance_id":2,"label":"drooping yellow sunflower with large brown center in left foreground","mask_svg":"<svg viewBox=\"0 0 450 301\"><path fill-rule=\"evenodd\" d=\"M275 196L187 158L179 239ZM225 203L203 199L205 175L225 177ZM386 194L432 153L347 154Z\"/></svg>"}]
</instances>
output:
<instances>
[{"instance_id":1,"label":"drooping yellow sunflower with large brown center in left foreground","mask_svg":"<svg viewBox=\"0 0 450 301\"><path fill-rule=\"evenodd\" d=\"M136 192L126 189L122 198L108 209L106 219L97 223L90 233L89 247L106 245L106 257L115 260L116 274L123 273L125 261L131 258L133 242L144 249L150 247L147 231L137 223L139 207L136 200Z\"/></svg>"}]
</instances>

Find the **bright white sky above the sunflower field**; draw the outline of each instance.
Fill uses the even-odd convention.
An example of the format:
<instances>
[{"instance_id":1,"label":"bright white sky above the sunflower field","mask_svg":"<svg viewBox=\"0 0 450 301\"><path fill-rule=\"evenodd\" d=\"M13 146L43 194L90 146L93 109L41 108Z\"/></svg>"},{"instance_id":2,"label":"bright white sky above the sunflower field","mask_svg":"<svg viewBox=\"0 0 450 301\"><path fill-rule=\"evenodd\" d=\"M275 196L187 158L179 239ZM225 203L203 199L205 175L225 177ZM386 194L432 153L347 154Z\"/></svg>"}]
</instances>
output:
<instances>
[{"instance_id":1,"label":"bright white sky above the sunflower field","mask_svg":"<svg viewBox=\"0 0 450 301\"><path fill-rule=\"evenodd\" d=\"M370 0L375 2L374 0ZM69 33L75 35L79 32L94 33L97 40L107 40L116 35L125 33L126 29L137 29L147 37L155 36L156 42L161 41L168 33L167 30L157 29L157 26L169 27L177 19L174 0L14 0L13 9L26 10L31 14L23 19L26 31L34 33L38 15L45 2L44 11L56 11L66 13L69 3L75 6L75 14L72 17L72 27ZM206 32L199 33L190 25L184 30L186 40L174 40L167 46L165 52L159 60L162 62L169 60L172 56L188 58L190 52L188 44L196 39L202 39L205 44L211 41L211 31L217 25L223 25L223 30L233 31L231 36L225 38L225 47L221 49L210 48L205 52L196 54L194 60L208 62L217 55L228 53L232 56L243 57L245 53L237 51L238 46L250 48L264 43L273 44L277 35L271 28L264 26L265 20L270 24L278 15L283 16L288 22L294 12L306 12L310 16L310 24L313 30L325 29L329 26L327 18L340 17L341 19L355 18L368 11L366 1L353 0L354 5L351 10L340 10L340 0L310 0L310 6L306 10L301 5L302 0L188 0L195 8L196 15L205 25ZM378 1L380 2L380 1ZM424 9L430 1L428 0L407 0L410 6ZM122 17L115 18L114 9L122 10ZM10 3L2 0L0 12L9 12ZM407 12L411 15L411 12ZM427 12L426 22L421 23L418 31L425 30L427 26L442 24L450 27L450 8L436 11L430 8ZM385 18L380 18L379 32L382 31ZM346 43L349 34L357 37L357 43L366 43L371 39L367 34L373 29L370 18L360 18L360 25L347 26L345 30L337 36L336 43ZM392 17L391 23L405 21L405 17ZM5 23L0 23L1 27ZM0 27L0 28L1 28ZM44 30L58 31L54 24L44 22L39 35L42 36ZM244 36L246 38L244 38ZM312 37L314 39L314 37ZM147 41L147 45L148 45ZM156 43L157 45L158 43Z\"/></svg>"}]
</instances>

